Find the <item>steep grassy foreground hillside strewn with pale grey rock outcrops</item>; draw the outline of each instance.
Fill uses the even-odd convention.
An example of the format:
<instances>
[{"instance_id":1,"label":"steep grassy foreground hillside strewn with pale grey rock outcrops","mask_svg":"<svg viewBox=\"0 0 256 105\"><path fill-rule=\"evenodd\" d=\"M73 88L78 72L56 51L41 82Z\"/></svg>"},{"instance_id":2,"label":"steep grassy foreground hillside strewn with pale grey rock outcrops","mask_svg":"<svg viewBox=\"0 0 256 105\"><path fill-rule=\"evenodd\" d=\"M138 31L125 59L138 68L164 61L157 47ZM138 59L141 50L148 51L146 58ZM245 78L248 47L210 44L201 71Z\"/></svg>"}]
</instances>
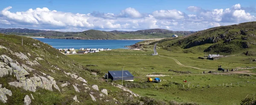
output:
<instances>
[{"instance_id":1,"label":"steep grassy foreground hillside strewn with pale grey rock outcrops","mask_svg":"<svg viewBox=\"0 0 256 105\"><path fill-rule=\"evenodd\" d=\"M41 41L0 34L0 105L160 103L113 86L102 75Z\"/></svg>"}]
</instances>

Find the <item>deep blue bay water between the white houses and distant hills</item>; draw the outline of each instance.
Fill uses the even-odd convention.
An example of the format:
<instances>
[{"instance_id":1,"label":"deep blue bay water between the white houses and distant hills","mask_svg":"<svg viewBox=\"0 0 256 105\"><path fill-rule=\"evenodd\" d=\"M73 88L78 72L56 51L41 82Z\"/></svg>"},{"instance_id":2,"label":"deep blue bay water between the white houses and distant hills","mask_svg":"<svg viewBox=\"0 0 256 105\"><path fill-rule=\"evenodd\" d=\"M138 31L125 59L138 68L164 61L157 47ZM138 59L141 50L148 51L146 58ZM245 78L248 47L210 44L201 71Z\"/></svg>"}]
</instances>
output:
<instances>
[{"instance_id":1,"label":"deep blue bay water between the white houses and distant hills","mask_svg":"<svg viewBox=\"0 0 256 105\"><path fill-rule=\"evenodd\" d=\"M109 48L109 49L127 49L125 46L135 44L143 40L75 40L75 39L44 39L35 38L47 43L56 49L64 48Z\"/></svg>"}]
</instances>

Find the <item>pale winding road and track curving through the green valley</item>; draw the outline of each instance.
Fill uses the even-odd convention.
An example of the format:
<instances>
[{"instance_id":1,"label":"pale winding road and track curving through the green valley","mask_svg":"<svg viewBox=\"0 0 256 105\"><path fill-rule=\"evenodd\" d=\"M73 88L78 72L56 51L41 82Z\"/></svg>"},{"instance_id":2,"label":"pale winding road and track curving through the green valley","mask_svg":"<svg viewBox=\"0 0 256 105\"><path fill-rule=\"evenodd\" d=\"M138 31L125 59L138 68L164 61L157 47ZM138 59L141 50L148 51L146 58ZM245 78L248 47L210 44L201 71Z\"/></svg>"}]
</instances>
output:
<instances>
[{"instance_id":1,"label":"pale winding road and track curving through the green valley","mask_svg":"<svg viewBox=\"0 0 256 105\"><path fill-rule=\"evenodd\" d=\"M157 46L157 43L154 44L154 48L153 48L154 54L157 54L157 48L156 48L156 46ZM190 67L190 68L200 69L200 70L217 71L217 70L214 70L214 69L201 69L201 68L198 68L198 67L186 66L186 65L181 64L181 63L180 63L177 59L175 59L175 58L167 57L167 56L163 56L163 55L159 55L159 56L161 56L161 57L166 57L166 58L171 58L171 59L173 59L173 60L174 60L178 65L180 65L180 66ZM254 73L248 73L248 72L234 72L234 73L256 75L256 74L254 74Z\"/></svg>"}]
</instances>

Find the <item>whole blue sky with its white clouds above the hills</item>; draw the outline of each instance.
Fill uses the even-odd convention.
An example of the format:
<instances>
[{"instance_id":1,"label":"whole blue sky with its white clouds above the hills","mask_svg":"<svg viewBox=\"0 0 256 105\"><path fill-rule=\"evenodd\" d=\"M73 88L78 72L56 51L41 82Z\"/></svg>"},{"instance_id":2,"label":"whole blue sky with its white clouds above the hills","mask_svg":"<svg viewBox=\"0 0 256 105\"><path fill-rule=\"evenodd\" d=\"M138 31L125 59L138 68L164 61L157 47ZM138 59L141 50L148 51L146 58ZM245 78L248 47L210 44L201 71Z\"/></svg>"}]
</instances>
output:
<instances>
[{"instance_id":1,"label":"whole blue sky with its white clouds above the hills","mask_svg":"<svg viewBox=\"0 0 256 105\"><path fill-rule=\"evenodd\" d=\"M204 30L255 21L255 7L256 0L0 0L0 28Z\"/></svg>"}]
</instances>

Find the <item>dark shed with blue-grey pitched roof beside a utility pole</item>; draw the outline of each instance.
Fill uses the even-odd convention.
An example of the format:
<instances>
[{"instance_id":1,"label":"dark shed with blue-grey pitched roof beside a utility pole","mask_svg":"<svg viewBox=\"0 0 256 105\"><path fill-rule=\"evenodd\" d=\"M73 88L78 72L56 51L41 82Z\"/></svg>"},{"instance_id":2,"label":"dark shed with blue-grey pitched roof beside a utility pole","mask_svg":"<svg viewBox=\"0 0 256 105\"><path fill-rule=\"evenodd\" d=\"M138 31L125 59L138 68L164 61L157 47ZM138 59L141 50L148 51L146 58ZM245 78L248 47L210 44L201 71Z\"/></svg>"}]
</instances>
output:
<instances>
[{"instance_id":1,"label":"dark shed with blue-grey pitched roof beside a utility pole","mask_svg":"<svg viewBox=\"0 0 256 105\"><path fill-rule=\"evenodd\" d=\"M108 71L108 78L111 80L122 80L122 70ZM134 81L134 76L128 70L123 70L123 80Z\"/></svg>"}]
</instances>

